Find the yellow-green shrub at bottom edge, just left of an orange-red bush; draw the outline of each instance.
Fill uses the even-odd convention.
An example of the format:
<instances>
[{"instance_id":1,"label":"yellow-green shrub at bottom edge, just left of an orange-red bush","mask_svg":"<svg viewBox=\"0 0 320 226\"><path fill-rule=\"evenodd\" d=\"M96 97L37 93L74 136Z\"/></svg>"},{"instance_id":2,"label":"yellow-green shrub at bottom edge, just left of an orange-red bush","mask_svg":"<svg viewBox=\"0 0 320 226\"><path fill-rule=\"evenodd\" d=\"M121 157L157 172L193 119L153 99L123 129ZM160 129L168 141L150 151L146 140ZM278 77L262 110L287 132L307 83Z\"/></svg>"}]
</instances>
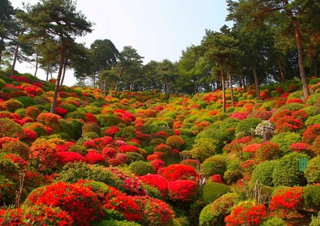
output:
<instances>
[{"instance_id":1,"label":"yellow-green shrub at bottom edge, just left of an orange-red bush","mask_svg":"<svg viewBox=\"0 0 320 226\"><path fill-rule=\"evenodd\" d=\"M215 199L213 203L206 205L199 216L200 226L224 226L225 216L231 213L233 205L238 202L237 193L225 193Z\"/></svg>"}]
</instances>

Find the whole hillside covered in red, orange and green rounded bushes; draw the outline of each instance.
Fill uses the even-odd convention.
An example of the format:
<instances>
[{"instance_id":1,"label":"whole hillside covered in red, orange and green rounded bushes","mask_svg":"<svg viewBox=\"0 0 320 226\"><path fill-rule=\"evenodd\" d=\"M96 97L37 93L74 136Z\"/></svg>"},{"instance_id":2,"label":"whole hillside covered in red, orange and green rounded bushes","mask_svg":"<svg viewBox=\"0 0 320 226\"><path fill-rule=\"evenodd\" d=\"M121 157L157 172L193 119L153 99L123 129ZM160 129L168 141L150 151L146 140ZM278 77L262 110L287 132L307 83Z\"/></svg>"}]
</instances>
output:
<instances>
[{"instance_id":1,"label":"whole hillside covered in red, orange and green rounded bushes","mask_svg":"<svg viewBox=\"0 0 320 226\"><path fill-rule=\"evenodd\" d=\"M0 74L0 225L319 225L320 79L179 96Z\"/></svg>"}]
</instances>

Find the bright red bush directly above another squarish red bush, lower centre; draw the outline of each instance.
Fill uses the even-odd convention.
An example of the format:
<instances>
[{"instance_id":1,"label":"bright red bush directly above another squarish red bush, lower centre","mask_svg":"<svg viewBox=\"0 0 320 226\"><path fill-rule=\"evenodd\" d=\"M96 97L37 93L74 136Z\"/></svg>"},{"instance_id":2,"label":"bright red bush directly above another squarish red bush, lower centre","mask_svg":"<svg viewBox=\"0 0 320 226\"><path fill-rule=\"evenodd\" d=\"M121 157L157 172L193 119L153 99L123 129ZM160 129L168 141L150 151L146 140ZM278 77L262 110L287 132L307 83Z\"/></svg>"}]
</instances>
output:
<instances>
[{"instance_id":1,"label":"bright red bush directly above another squarish red bush, lower centre","mask_svg":"<svg viewBox=\"0 0 320 226\"><path fill-rule=\"evenodd\" d=\"M167 181L176 181L176 180L195 180L197 173L196 170L191 166L184 164L171 164L166 166L161 173L161 176Z\"/></svg>"}]
</instances>

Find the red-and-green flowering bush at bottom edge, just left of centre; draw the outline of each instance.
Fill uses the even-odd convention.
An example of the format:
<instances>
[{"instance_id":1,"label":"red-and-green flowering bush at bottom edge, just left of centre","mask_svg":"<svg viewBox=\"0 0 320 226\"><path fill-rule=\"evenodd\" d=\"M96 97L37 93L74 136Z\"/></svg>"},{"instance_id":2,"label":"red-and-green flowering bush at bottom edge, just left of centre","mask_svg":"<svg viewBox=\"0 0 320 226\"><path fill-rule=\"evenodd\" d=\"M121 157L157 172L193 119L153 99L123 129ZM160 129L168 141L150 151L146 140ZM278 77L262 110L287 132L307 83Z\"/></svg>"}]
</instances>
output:
<instances>
[{"instance_id":1,"label":"red-and-green flowering bush at bottom edge, just left of centre","mask_svg":"<svg viewBox=\"0 0 320 226\"><path fill-rule=\"evenodd\" d=\"M174 219L174 212L164 201L149 196L134 196L142 210L142 225L149 226L171 226Z\"/></svg>"}]
</instances>

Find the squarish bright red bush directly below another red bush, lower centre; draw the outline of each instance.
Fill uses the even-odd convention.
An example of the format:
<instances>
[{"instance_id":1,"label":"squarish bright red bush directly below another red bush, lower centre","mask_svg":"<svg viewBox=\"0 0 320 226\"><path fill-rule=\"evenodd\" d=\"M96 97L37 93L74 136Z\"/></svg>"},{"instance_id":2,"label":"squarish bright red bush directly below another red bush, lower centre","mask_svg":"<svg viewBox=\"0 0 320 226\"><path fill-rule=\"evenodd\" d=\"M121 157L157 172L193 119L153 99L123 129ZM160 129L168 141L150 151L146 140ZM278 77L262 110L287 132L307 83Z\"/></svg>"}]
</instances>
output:
<instances>
[{"instance_id":1,"label":"squarish bright red bush directly below another red bush, lower centre","mask_svg":"<svg viewBox=\"0 0 320 226\"><path fill-rule=\"evenodd\" d=\"M191 201L198 196L198 184L190 180L170 181L168 191L171 200Z\"/></svg>"}]
</instances>

